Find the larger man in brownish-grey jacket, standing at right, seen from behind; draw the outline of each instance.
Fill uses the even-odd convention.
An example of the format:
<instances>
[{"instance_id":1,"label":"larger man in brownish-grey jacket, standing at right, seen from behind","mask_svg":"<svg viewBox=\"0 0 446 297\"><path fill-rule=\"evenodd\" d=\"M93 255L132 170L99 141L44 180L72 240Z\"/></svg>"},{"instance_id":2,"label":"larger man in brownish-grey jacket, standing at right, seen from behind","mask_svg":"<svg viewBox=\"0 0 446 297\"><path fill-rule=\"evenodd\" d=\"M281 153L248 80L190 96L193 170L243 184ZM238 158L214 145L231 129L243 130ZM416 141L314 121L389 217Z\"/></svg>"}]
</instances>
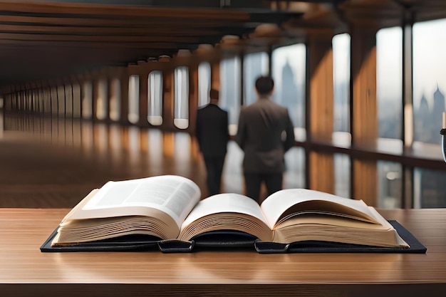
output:
<instances>
[{"instance_id":1,"label":"larger man in brownish-grey jacket, standing at right, seen from behind","mask_svg":"<svg viewBox=\"0 0 446 297\"><path fill-rule=\"evenodd\" d=\"M288 110L271 101L274 80L256 80L256 102L243 106L236 142L244 151L243 173L248 197L260 202L261 183L268 194L282 188L284 154L294 145L294 127Z\"/></svg>"}]
</instances>

